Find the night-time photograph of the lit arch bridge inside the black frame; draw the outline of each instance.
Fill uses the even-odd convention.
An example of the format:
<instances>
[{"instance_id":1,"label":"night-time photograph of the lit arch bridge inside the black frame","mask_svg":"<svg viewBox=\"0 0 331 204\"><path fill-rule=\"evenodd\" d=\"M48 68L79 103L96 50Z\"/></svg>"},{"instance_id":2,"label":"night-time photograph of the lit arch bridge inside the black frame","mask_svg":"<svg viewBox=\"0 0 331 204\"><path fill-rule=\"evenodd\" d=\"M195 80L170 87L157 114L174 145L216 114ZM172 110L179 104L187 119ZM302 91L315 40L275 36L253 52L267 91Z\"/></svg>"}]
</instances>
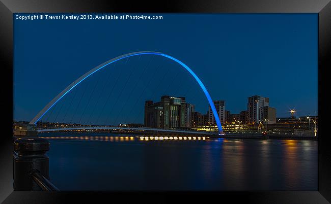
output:
<instances>
[{"instance_id":1,"label":"night-time photograph of the lit arch bridge inside the black frame","mask_svg":"<svg viewBox=\"0 0 331 204\"><path fill-rule=\"evenodd\" d=\"M13 17L15 145L58 189L317 190L317 14Z\"/></svg>"}]
</instances>

